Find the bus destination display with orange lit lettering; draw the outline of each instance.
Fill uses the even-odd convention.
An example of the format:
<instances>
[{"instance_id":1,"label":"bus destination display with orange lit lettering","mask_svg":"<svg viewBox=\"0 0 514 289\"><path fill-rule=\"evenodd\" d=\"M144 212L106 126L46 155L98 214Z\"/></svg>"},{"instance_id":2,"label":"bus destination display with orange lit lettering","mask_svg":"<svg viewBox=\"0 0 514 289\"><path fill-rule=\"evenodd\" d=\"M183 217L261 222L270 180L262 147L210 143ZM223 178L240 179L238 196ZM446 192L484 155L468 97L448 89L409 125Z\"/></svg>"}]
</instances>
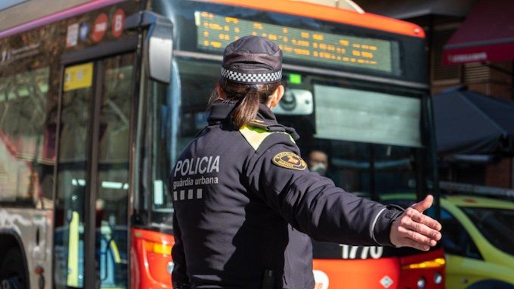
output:
<instances>
[{"instance_id":1,"label":"bus destination display with orange lit lettering","mask_svg":"<svg viewBox=\"0 0 514 289\"><path fill-rule=\"evenodd\" d=\"M392 72L391 41L291 28L195 12L199 49L223 51L246 35L267 37L279 45L285 59L295 59Z\"/></svg>"}]
</instances>

